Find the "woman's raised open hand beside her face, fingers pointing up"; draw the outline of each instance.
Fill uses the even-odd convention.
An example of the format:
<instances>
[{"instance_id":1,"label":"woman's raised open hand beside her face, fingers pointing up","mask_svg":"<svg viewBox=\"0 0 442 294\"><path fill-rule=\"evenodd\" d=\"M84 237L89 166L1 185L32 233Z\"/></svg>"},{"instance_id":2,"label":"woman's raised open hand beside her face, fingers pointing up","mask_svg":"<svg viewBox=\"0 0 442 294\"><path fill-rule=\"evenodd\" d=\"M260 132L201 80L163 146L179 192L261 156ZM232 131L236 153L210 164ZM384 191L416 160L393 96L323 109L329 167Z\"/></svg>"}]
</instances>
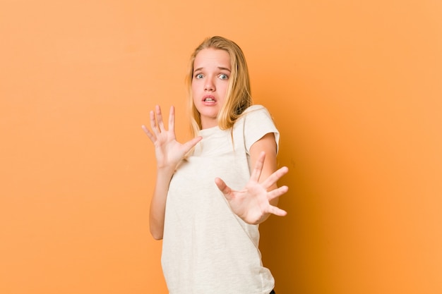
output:
<instances>
[{"instance_id":1,"label":"woman's raised open hand beside her face, fingers pointing up","mask_svg":"<svg viewBox=\"0 0 442 294\"><path fill-rule=\"evenodd\" d=\"M141 126L144 133L148 135L150 141L152 141L155 146L157 169L175 169L186 153L202 139L202 137L194 137L192 140L181 144L177 142L174 126L174 106L170 107L169 130L167 130L162 119L160 106L158 105L155 106L155 113L154 111L150 111L150 128L152 130L150 131L145 125Z\"/></svg>"}]
</instances>

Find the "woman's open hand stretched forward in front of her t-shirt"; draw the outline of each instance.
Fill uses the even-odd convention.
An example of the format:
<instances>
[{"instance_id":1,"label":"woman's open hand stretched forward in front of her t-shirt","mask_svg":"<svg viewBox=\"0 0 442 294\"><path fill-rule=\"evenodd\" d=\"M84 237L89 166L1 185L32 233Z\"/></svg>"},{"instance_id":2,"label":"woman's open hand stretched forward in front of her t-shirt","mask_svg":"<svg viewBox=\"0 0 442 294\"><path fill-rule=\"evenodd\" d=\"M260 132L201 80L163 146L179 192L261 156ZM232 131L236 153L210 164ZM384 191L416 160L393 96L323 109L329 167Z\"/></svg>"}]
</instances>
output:
<instances>
[{"instance_id":1,"label":"woman's open hand stretched forward in front of her t-shirt","mask_svg":"<svg viewBox=\"0 0 442 294\"><path fill-rule=\"evenodd\" d=\"M285 194L289 188L281 186L275 190L268 191L268 189L275 185L277 180L289 170L284 166L259 183L264 159L265 152L262 152L256 161L249 183L247 183L244 190L232 190L224 180L215 178L215 183L226 197L227 202L229 202L232 212L237 214L246 223L261 223L268 217L268 214L275 214L277 216L285 216L287 214L284 210L271 205L270 200Z\"/></svg>"}]
</instances>

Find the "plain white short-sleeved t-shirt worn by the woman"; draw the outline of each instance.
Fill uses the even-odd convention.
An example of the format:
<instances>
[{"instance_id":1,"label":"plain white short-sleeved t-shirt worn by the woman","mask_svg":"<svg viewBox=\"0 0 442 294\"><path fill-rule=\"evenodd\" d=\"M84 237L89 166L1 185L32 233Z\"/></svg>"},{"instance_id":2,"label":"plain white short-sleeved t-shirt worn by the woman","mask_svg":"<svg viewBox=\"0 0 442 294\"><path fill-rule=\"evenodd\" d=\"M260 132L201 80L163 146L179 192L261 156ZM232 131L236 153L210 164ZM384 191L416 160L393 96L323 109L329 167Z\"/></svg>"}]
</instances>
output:
<instances>
[{"instance_id":1,"label":"plain white short-sleeved t-shirt worn by the woman","mask_svg":"<svg viewBox=\"0 0 442 294\"><path fill-rule=\"evenodd\" d=\"M254 105L231 130L201 130L203 140L169 185L162 269L170 294L268 294L274 279L263 267L258 226L244 223L215 184L235 190L250 178L249 150L267 133L279 133L267 109Z\"/></svg>"}]
</instances>

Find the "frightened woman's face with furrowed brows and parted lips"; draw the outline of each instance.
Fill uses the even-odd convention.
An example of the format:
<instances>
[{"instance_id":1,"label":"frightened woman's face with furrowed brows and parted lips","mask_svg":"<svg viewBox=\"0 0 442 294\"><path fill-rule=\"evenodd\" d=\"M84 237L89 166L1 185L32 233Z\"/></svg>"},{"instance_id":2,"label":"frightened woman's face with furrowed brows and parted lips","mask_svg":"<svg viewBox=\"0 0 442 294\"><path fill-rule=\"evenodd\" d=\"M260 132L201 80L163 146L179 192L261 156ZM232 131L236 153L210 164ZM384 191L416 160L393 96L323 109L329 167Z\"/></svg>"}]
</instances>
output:
<instances>
[{"instance_id":1,"label":"frightened woman's face with furrowed brows and parted lips","mask_svg":"<svg viewBox=\"0 0 442 294\"><path fill-rule=\"evenodd\" d=\"M231 71L230 56L225 50L203 49L193 61L193 103L201 115L203 129L217 125L217 115L225 103Z\"/></svg>"}]
</instances>

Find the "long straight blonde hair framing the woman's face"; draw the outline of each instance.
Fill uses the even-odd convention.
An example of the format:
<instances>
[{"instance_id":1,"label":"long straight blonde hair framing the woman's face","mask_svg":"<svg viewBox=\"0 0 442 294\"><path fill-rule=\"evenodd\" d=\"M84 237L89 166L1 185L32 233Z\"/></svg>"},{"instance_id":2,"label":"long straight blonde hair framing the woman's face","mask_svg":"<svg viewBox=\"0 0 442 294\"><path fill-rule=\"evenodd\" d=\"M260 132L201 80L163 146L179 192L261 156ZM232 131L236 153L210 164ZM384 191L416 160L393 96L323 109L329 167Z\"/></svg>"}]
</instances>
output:
<instances>
[{"instance_id":1,"label":"long straight blonde hair framing the woman's face","mask_svg":"<svg viewBox=\"0 0 442 294\"><path fill-rule=\"evenodd\" d=\"M227 51L230 56L230 66L232 68L225 104L218 114L218 126L222 130L232 128L243 111L253 104L250 91L249 69L247 68L246 58L241 48L235 42L224 37L215 36L205 39L195 51L193 51L189 61L189 71L186 75L186 87L191 110L191 130L194 136L198 133L198 130L201 130L201 116L195 104L193 104L193 62L201 50L208 48Z\"/></svg>"}]
</instances>

